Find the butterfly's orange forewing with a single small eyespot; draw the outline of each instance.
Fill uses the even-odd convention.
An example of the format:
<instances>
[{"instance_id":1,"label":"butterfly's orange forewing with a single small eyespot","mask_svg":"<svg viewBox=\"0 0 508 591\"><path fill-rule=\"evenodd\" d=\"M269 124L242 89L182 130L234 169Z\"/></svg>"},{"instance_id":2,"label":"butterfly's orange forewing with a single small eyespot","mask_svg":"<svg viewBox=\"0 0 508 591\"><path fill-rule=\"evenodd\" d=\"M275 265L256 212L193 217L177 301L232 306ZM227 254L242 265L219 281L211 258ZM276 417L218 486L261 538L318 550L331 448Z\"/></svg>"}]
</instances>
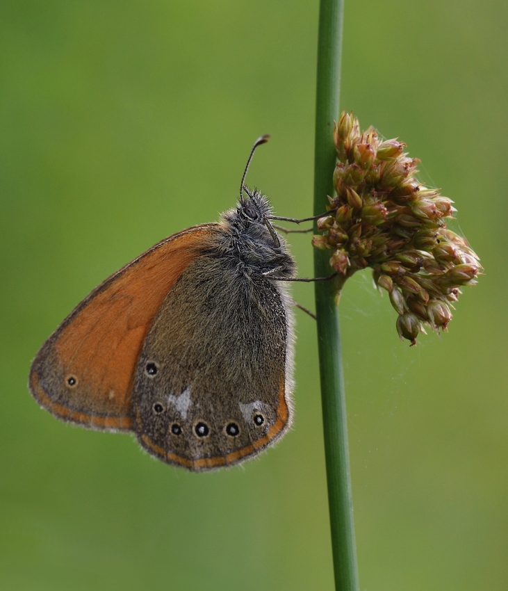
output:
<instances>
[{"instance_id":1,"label":"butterfly's orange forewing with a single small eyespot","mask_svg":"<svg viewBox=\"0 0 508 591\"><path fill-rule=\"evenodd\" d=\"M65 421L131 430L133 378L151 323L218 232L218 224L204 224L173 234L92 291L35 357L28 382L35 400Z\"/></svg>"}]
</instances>

